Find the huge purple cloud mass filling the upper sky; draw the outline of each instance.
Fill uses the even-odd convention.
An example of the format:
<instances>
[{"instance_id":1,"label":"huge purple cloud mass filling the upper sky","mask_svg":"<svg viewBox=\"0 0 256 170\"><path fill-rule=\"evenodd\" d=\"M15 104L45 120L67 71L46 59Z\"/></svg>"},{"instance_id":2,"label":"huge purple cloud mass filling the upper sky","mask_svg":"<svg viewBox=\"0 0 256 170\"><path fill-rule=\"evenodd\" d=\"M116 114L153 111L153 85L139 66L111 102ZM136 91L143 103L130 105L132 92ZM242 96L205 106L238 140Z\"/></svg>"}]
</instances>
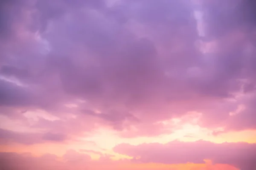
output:
<instances>
[{"instance_id":1,"label":"huge purple cloud mass filling the upper sky","mask_svg":"<svg viewBox=\"0 0 256 170\"><path fill-rule=\"evenodd\" d=\"M34 127L64 136L99 126L125 137L157 136L172 130L154 123L198 111L203 127L255 129L254 88L242 91L256 73L250 1L236 8L231 1L204 4L211 29L203 42L193 4L180 0L1 3L0 107L19 116L41 109L60 119L39 119ZM212 54L200 53L200 43ZM241 103L244 113L231 117Z\"/></svg>"}]
</instances>

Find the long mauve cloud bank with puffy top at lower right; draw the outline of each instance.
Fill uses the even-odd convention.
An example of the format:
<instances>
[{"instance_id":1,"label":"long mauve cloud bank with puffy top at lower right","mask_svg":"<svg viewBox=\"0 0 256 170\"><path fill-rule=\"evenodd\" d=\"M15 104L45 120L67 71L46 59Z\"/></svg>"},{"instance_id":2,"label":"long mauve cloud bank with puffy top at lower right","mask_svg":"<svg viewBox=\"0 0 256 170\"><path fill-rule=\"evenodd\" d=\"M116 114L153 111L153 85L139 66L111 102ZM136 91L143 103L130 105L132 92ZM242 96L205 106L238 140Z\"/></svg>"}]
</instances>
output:
<instances>
[{"instance_id":1,"label":"long mauve cloud bank with puffy top at lower right","mask_svg":"<svg viewBox=\"0 0 256 170\"><path fill-rule=\"evenodd\" d=\"M136 161L143 163L203 163L208 159L214 163L231 164L242 170L252 170L256 167L256 144L248 143L215 144L205 141L173 141L167 144L150 143L137 146L119 144L114 151L137 158Z\"/></svg>"}]
</instances>

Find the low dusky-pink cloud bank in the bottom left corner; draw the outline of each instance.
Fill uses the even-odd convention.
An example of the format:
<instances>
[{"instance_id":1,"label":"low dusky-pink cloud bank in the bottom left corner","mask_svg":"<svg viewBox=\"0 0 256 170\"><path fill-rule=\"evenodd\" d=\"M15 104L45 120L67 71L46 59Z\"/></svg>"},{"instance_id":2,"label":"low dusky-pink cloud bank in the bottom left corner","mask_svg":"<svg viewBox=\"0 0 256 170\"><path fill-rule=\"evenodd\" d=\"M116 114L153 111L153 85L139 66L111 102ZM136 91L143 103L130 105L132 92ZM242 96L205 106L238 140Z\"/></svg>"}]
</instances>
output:
<instances>
[{"instance_id":1,"label":"low dusky-pink cloud bank in the bottom left corner","mask_svg":"<svg viewBox=\"0 0 256 170\"><path fill-rule=\"evenodd\" d=\"M13 164L15 162L15 164ZM93 170L93 169L109 169L117 170L120 165L125 165L129 161L113 161L107 156L102 159L92 160L89 155L78 153L75 150L67 150L63 156L53 154L44 154L42 156L33 156L31 153L0 153L0 169L6 170ZM125 166L122 167L125 169Z\"/></svg>"}]
</instances>

